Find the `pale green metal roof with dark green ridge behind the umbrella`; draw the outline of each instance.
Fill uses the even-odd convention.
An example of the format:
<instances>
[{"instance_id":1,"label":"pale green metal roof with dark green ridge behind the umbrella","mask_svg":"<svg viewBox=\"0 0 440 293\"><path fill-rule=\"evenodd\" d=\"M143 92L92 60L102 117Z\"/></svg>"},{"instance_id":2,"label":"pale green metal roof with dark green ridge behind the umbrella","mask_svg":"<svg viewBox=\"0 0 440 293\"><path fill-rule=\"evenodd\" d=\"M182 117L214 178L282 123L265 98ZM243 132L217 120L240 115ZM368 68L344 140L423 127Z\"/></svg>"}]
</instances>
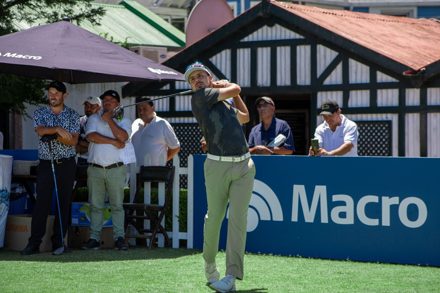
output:
<instances>
[{"instance_id":1,"label":"pale green metal roof with dark green ridge behind the umbrella","mask_svg":"<svg viewBox=\"0 0 440 293\"><path fill-rule=\"evenodd\" d=\"M93 25L91 22L83 21L80 27L103 37L107 34L106 39L114 43L124 43L128 37L127 43L130 46L185 46L185 34L179 29L176 29L147 8L137 7L136 4L132 3L135 1L128 0L125 2L127 7L120 4L92 2L93 6L101 6L106 10L106 14L100 21L101 25ZM45 22L45 19L41 18L35 25L41 25ZM31 27L25 22L15 22L14 25L19 30Z\"/></svg>"}]
</instances>

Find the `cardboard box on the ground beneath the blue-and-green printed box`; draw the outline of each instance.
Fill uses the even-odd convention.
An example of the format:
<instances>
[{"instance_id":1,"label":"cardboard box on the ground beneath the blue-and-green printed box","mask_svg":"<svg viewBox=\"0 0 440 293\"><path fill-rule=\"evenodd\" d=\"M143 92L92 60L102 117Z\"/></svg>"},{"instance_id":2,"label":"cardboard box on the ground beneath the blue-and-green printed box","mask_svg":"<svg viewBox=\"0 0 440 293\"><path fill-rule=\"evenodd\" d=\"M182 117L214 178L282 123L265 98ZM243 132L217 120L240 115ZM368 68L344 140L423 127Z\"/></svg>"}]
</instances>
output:
<instances>
[{"instance_id":1,"label":"cardboard box on the ground beneath the blue-and-green printed box","mask_svg":"<svg viewBox=\"0 0 440 293\"><path fill-rule=\"evenodd\" d=\"M128 227L127 227L128 229ZM81 248L87 241L90 227L87 226L69 226L68 243L71 248ZM126 231L125 233L128 233ZM128 238L125 238L125 244L128 245ZM114 248L113 227L103 227L101 230L101 248Z\"/></svg>"}]
</instances>

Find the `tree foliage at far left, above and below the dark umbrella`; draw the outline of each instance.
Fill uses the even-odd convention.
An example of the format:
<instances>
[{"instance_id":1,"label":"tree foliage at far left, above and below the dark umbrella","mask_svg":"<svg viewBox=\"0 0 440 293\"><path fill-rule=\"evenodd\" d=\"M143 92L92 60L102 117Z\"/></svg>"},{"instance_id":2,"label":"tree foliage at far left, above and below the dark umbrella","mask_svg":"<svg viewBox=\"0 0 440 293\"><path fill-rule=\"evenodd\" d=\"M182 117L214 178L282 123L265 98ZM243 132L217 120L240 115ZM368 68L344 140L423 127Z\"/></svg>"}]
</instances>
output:
<instances>
[{"instance_id":1,"label":"tree foliage at far left, above and below the dark umbrella","mask_svg":"<svg viewBox=\"0 0 440 293\"><path fill-rule=\"evenodd\" d=\"M59 22L63 17L80 25L87 20L100 25L106 13L103 7L93 7L92 0L0 0L0 36L17 31L14 24L26 22L33 26ZM48 81L38 78L0 73L0 103L2 112L21 113L29 117L25 103L47 103L45 86Z\"/></svg>"}]
</instances>

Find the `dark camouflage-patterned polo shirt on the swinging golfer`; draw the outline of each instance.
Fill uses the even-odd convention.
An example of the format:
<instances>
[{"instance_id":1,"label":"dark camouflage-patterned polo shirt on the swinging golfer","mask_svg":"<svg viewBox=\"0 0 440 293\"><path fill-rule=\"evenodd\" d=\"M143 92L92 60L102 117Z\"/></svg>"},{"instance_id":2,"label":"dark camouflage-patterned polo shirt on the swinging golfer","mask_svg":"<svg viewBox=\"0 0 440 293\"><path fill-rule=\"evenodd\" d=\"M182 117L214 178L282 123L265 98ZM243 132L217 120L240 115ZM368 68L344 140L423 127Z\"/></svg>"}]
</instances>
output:
<instances>
[{"instance_id":1,"label":"dark camouflage-patterned polo shirt on the swinging golfer","mask_svg":"<svg viewBox=\"0 0 440 293\"><path fill-rule=\"evenodd\" d=\"M195 119L206 138L208 152L216 156L241 156L249 152L237 119L238 109L217 101L219 89L201 88L191 98Z\"/></svg>"}]
</instances>

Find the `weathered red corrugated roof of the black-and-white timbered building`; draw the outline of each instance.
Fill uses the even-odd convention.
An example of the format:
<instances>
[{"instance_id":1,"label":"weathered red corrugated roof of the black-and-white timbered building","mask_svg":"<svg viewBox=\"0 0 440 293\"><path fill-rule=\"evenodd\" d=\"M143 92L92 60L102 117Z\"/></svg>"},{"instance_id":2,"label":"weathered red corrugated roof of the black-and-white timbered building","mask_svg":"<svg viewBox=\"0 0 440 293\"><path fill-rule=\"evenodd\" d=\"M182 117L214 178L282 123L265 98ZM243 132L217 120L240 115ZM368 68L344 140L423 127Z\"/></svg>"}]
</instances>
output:
<instances>
[{"instance_id":1,"label":"weathered red corrugated roof of the black-and-white timbered building","mask_svg":"<svg viewBox=\"0 0 440 293\"><path fill-rule=\"evenodd\" d=\"M278 1L310 22L418 71L440 60L440 23L435 20L324 9Z\"/></svg>"}]
</instances>

